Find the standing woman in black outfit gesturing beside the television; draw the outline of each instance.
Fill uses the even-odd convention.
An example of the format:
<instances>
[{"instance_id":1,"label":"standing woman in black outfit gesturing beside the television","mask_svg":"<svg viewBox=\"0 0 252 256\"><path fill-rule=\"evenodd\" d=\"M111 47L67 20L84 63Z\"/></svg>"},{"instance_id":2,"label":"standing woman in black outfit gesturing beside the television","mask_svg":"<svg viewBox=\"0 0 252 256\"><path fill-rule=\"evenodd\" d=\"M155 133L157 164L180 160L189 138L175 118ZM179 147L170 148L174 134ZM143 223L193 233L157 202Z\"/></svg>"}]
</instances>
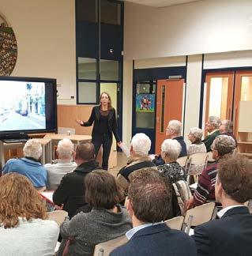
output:
<instances>
[{"instance_id":1,"label":"standing woman in black outfit gesturing beside the television","mask_svg":"<svg viewBox=\"0 0 252 256\"><path fill-rule=\"evenodd\" d=\"M108 168L108 158L111 152L113 135L118 146L122 143L118 136L115 108L111 105L111 96L107 92L100 94L100 105L92 108L88 122L76 120L81 126L94 126L92 128L92 144L95 146L96 156L100 146L103 145L103 170Z\"/></svg>"}]
</instances>

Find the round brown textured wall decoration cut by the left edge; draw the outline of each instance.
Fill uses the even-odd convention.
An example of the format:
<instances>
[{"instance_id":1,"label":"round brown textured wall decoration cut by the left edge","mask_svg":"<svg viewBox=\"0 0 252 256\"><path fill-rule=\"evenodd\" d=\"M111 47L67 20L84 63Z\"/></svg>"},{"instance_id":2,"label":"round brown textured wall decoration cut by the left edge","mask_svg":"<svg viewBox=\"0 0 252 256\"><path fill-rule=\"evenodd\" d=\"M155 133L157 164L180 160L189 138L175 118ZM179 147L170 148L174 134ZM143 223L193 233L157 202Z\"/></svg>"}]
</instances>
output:
<instances>
[{"instance_id":1,"label":"round brown textured wall decoration cut by the left edge","mask_svg":"<svg viewBox=\"0 0 252 256\"><path fill-rule=\"evenodd\" d=\"M9 76L17 62L17 40L13 28L0 13L0 76Z\"/></svg>"}]
</instances>

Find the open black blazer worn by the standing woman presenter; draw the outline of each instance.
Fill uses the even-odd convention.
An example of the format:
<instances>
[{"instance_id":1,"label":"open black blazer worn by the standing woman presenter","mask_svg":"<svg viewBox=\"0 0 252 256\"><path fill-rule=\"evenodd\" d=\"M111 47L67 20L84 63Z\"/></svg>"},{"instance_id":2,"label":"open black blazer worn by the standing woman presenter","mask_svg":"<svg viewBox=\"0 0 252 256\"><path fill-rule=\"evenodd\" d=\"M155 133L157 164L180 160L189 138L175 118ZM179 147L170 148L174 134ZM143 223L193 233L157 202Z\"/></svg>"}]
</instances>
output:
<instances>
[{"instance_id":1,"label":"open black blazer worn by the standing woman presenter","mask_svg":"<svg viewBox=\"0 0 252 256\"><path fill-rule=\"evenodd\" d=\"M92 140L99 136L98 128L100 124L100 105L92 108L92 112L88 119L88 122L84 122L83 125L81 126L92 126L93 122L94 122L94 126L92 128ZM112 140L112 132L113 132L113 134L115 135L115 140L117 142L121 141L117 131L115 108L111 108L108 113L108 132L109 132L108 135L109 137L111 137L111 140Z\"/></svg>"}]
</instances>

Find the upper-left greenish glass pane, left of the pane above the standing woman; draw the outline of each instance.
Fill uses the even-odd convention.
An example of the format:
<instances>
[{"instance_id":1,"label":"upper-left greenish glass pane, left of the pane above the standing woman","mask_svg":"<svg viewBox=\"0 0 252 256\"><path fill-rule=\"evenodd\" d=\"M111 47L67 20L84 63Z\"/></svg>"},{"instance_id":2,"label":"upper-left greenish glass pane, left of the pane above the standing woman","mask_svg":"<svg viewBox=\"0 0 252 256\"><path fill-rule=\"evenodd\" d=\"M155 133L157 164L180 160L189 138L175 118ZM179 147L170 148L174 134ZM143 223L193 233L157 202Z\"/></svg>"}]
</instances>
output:
<instances>
[{"instance_id":1,"label":"upper-left greenish glass pane, left of the pane above the standing woman","mask_svg":"<svg viewBox=\"0 0 252 256\"><path fill-rule=\"evenodd\" d=\"M78 58L78 79L96 80L96 70L95 58Z\"/></svg>"}]
</instances>

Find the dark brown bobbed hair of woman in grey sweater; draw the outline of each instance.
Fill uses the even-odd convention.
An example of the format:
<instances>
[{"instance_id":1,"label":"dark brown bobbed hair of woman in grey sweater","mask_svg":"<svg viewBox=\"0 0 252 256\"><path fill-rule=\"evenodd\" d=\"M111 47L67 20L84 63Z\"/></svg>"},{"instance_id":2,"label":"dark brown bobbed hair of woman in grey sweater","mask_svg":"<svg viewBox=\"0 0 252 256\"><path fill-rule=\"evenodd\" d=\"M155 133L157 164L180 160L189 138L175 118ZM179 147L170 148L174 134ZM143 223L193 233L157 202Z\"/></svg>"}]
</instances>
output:
<instances>
[{"instance_id":1,"label":"dark brown bobbed hair of woman in grey sweater","mask_svg":"<svg viewBox=\"0 0 252 256\"><path fill-rule=\"evenodd\" d=\"M112 209L123 200L115 177L103 170L88 173L85 177L85 201L95 208Z\"/></svg>"}]
</instances>

